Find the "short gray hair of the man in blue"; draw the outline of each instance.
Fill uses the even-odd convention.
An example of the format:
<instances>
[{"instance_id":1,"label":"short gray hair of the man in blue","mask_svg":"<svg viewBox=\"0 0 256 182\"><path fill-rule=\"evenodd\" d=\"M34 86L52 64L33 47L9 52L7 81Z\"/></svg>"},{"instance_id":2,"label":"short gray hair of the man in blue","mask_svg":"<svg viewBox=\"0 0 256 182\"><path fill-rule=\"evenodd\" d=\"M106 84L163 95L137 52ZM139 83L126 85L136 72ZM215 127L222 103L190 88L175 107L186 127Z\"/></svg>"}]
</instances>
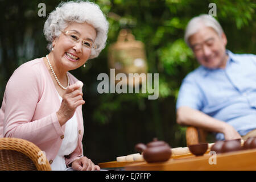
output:
<instances>
[{"instance_id":1,"label":"short gray hair of the man in blue","mask_svg":"<svg viewBox=\"0 0 256 182\"><path fill-rule=\"evenodd\" d=\"M218 21L212 16L208 14L202 14L202 15L196 16L191 20L189 20L185 30L184 39L188 46L189 46L189 42L188 42L189 37L195 34L197 31L199 31L199 29L202 27L213 28L213 30L216 31L219 36L221 36L222 33L224 32L220 23L218 23Z\"/></svg>"}]
</instances>

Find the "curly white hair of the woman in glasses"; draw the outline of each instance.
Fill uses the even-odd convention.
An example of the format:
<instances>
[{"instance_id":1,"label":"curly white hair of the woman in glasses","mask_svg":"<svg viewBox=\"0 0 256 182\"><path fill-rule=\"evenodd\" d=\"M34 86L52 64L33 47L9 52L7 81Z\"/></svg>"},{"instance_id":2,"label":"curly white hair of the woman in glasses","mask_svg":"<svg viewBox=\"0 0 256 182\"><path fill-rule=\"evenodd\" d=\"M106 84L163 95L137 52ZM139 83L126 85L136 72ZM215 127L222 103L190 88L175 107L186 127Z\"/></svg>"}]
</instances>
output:
<instances>
[{"instance_id":1,"label":"curly white hair of the woman in glasses","mask_svg":"<svg viewBox=\"0 0 256 182\"><path fill-rule=\"evenodd\" d=\"M53 39L60 36L69 23L88 23L96 30L96 49L92 49L89 59L97 57L106 46L108 38L109 22L100 10L100 7L92 2L69 1L62 2L52 11L44 23L44 35L48 43L48 50L52 49Z\"/></svg>"}]
</instances>

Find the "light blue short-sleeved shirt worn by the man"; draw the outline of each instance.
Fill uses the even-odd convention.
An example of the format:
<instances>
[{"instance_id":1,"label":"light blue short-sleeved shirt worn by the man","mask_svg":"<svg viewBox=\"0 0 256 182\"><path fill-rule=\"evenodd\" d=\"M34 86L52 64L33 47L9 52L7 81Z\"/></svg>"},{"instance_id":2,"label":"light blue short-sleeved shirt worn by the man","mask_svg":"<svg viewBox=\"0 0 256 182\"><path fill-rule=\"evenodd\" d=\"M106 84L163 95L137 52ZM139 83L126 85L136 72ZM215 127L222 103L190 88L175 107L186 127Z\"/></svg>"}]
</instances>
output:
<instances>
[{"instance_id":1,"label":"light blue short-sleeved shirt worn by the man","mask_svg":"<svg viewBox=\"0 0 256 182\"><path fill-rule=\"evenodd\" d=\"M234 54L225 69L202 65L183 80L176 109L189 106L232 125L243 136L256 129L256 55ZM224 134L217 133L217 140Z\"/></svg>"}]
</instances>

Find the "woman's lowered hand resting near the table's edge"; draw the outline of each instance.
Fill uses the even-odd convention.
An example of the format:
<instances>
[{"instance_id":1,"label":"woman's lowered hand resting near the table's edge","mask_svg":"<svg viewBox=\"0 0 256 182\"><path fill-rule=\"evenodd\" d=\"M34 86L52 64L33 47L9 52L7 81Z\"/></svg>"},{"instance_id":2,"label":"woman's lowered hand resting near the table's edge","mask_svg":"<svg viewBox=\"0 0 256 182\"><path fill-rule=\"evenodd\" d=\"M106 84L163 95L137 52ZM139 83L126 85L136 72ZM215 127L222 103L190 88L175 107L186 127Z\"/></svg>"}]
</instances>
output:
<instances>
[{"instance_id":1,"label":"woman's lowered hand resting near the table's edge","mask_svg":"<svg viewBox=\"0 0 256 182\"><path fill-rule=\"evenodd\" d=\"M100 171L100 166L95 165L92 160L85 156L72 162L72 168L77 171Z\"/></svg>"}]
</instances>

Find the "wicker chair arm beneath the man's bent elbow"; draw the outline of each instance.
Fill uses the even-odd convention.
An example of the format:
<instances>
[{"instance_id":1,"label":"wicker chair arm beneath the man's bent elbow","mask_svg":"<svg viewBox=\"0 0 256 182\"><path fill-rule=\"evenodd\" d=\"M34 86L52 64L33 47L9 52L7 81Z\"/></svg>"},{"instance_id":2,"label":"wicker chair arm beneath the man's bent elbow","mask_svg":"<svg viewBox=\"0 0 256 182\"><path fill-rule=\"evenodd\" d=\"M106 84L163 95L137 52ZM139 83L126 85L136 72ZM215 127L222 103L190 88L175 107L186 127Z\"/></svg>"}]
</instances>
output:
<instances>
[{"instance_id":1,"label":"wicker chair arm beneath the man's bent elbow","mask_svg":"<svg viewBox=\"0 0 256 182\"><path fill-rule=\"evenodd\" d=\"M207 140L208 132L203 129L198 129L193 126L187 127L186 130L186 141L187 146L191 144L204 143Z\"/></svg>"}]
</instances>

